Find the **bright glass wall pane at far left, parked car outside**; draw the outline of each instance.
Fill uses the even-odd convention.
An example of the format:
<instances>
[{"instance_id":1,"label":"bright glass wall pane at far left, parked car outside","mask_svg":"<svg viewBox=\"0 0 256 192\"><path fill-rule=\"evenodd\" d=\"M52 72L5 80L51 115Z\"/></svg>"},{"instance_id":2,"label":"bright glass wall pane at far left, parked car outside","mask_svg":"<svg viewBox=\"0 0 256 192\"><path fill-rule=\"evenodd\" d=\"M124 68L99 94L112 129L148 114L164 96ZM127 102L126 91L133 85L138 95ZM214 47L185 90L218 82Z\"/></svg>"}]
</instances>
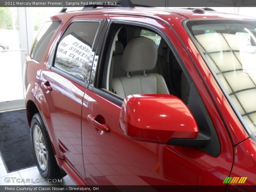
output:
<instances>
[{"instance_id":1,"label":"bright glass wall pane at far left, parked car outside","mask_svg":"<svg viewBox=\"0 0 256 192\"><path fill-rule=\"evenodd\" d=\"M0 7L0 102L23 99L16 7Z\"/></svg>"}]
</instances>

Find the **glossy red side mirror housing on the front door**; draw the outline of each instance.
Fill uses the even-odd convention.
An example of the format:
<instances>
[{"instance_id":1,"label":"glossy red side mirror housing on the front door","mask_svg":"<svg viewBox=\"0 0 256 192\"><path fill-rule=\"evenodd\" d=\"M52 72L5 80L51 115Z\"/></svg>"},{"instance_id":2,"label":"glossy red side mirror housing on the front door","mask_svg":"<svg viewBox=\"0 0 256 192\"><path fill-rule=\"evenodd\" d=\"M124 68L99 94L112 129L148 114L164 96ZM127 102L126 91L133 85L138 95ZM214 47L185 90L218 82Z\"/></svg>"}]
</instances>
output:
<instances>
[{"instance_id":1,"label":"glossy red side mirror housing on the front door","mask_svg":"<svg viewBox=\"0 0 256 192\"><path fill-rule=\"evenodd\" d=\"M186 104L168 94L126 97L119 125L128 138L160 144L169 144L172 139L193 140L199 132L196 120Z\"/></svg>"}]
</instances>

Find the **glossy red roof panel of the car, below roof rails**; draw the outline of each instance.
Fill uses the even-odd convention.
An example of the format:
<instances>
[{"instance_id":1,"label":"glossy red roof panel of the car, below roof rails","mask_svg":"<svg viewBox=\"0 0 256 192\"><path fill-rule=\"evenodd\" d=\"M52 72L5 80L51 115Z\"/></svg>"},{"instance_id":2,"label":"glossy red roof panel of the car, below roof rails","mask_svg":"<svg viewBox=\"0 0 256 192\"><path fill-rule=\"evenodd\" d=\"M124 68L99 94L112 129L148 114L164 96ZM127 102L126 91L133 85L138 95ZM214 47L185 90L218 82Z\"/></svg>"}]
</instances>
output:
<instances>
[{"instance_id":1,"label":"glossy red roof panel of the car, below roof rails","mask_svg":"<svg viewBox=\"0 0 256 192\"><path fill-rule=\"evenodd\" d=\"M153 18L162 18L164 19L167 15L179 15L184 19L256 19L253 17L242 16L231 13L222 13L216 11L204 11L204 13L195 12L193 9L165 9L165 8L156 8L156 7L104 7L104 8L87 8L81 11L71 11L59 13L51 19L61 19L62 17L73 17L75 15L85 15L85 14L125 14L125 15L140 15L140 16L149 16Z\"/></svg>"}]
</instances>

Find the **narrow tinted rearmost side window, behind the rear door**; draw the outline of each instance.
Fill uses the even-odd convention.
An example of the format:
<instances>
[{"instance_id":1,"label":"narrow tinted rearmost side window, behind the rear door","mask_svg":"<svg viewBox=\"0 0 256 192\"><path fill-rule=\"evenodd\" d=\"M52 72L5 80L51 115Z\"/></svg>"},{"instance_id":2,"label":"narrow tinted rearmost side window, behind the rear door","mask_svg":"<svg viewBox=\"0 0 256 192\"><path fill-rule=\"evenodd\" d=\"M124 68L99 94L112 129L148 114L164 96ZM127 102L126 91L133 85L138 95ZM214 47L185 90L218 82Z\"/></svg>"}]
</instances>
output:
<instances>
[{"instance_id":1,"label":"narrow tinted rearmost side window, behind the rear door","mask_svg":"<svg viewBox=\"0 0 256 192\"><path fill-rule=\"evenodd\" d=\"M44 56L44 52L50 43L52 36L60 26L61 21L48 21L41 28L36 37L35 44L32 48L31 57L40 62Z\"/></svg>"}]
</instances>

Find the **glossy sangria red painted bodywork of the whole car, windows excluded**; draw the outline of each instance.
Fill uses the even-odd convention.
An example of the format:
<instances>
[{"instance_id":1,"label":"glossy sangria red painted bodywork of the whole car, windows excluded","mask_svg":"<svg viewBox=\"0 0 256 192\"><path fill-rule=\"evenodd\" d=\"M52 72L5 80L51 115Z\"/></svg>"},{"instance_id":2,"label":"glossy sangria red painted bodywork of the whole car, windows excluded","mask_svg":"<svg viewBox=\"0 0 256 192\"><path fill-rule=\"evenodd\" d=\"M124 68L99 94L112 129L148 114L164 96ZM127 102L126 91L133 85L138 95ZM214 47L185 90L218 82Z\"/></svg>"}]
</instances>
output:
<instances>
[{"instance_id":1,"label":"glossy sangria red painted bodywork of the whole car, windows excluded","mask_svg":"<svg viewBox=\"0 0 256 192\"><path fill-rule=\"evenodd\" d=\"M256 144L244 130L182 25L186 19L238 17L217 12L199 14L191 10L155 8L87 10L52 17L52 20L61 20L62 23L52 37L42 61L38 63L29 57L26 62L29 125L33 114L38 111L47 127L59 166L78 185L227 185L223 184L223 180L229 176L248 177L245 184L256 185ZM220 142L219 155L211 156L198 148L166 145L166 141L174 137L171 133L166 134L172 120L181 124L186 116L183 123L188 131L186 137L196 138L198 134L194 117L173 96L160 95L162 98L155 114L152 114L153 109L147 111L146 108L137 108L138 103L135 103L140 98L130 97L126 100L131 102L127 107L139 111L126 114L120 105L48 68L48 56L74 19L122 20L147 24L161 30L180 55L211 117ZM155 99L153 95L147 97ZM173 109L173 113L180 116L176 114L175 117L170 116L170 119L158 122L160 118L154 116L161 116L161 110L169 110L169 106L164 104L167 100L176 102L183 112ZM145 106L153 105L152 100L148 103L147 100L140 101ZM120 112L123 121L130 118L129 121L134 122L135 117L156 118L157 122L150 125L154 127L154 132L150 132L149 136L144 131L128 132L129 126L123 125L127 122L121 121L124 133L138 140L128 138L119 127ZM163 134L158 132L157 123L161 125L161 130L164 129ZM142 121L133 125L144 128L147 124ZM184 134L175 135L176 138L182 136ZM148 137L149 141L155 143L141 141L142 137Z\"/></svg>"}]
</instances>

